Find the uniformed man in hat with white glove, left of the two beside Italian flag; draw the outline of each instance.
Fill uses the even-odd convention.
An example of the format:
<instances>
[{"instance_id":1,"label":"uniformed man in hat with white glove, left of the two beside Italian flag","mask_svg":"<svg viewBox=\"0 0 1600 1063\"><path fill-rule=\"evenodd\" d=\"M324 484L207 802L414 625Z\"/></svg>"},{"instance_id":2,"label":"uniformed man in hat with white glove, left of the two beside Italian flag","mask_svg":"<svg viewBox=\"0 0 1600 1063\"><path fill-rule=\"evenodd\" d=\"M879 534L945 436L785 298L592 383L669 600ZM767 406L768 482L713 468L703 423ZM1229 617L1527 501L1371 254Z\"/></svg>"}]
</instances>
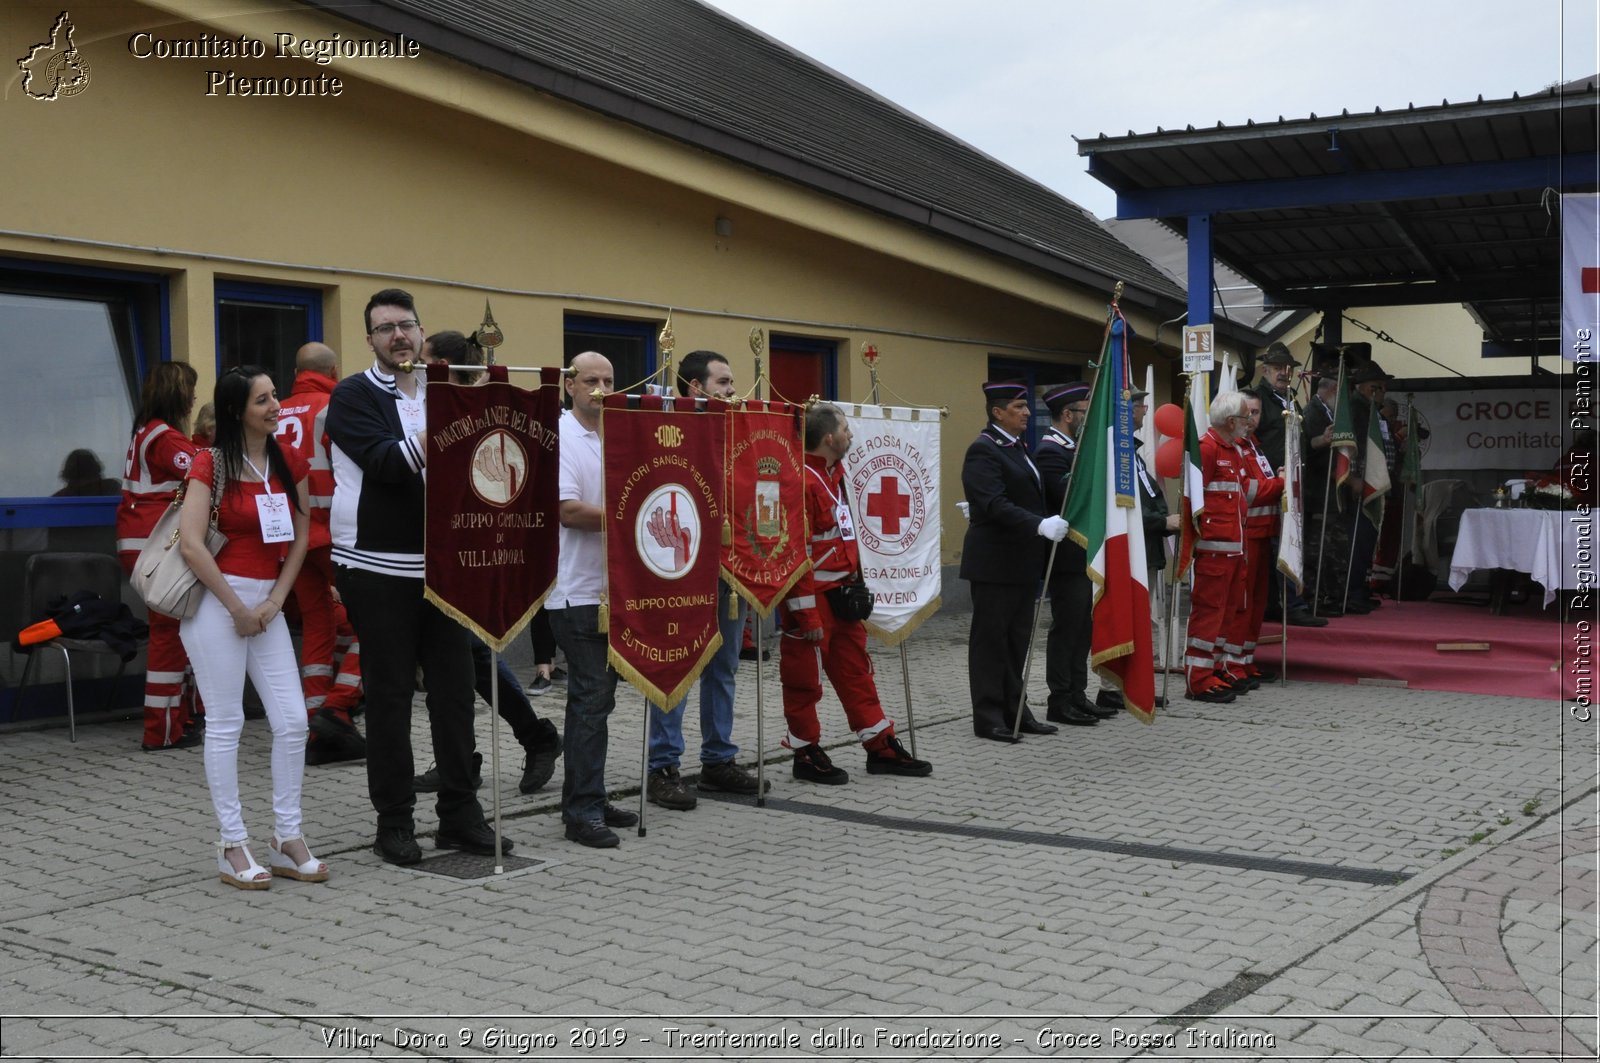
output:
<instances>
[{"instance_id":1,"label":"uniformed man in hat with white glove, left of the two beside Italian flag","mask_svg":"<svg viewBox=\"0 0 1600 1063\"><path fill-rule=\"evenodd\" d=\"M1067 522L1045 509L1043 479L1022 443L1032 405L1021 381L984 384L989 424L962 461L970 519L962 543L962 580L971 583L973 592L966 639L973 733L994 741L1016 741L1011 720L1022 700L1034 594L1048 544L1067 538ZM1024 709L1021 733L1054 732Z\"/></svg>"}]
</instances>

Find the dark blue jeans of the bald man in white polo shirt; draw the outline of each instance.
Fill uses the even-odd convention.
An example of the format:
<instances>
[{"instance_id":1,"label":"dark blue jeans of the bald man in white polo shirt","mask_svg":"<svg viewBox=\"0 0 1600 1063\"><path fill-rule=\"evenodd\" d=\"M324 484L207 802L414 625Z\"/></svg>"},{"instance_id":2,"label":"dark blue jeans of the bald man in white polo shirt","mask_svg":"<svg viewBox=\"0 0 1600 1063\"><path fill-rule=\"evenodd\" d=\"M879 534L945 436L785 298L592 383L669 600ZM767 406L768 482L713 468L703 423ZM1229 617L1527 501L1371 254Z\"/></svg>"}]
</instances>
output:
<instances>
[{"instance_id":1,"label":"dark blue jeans of the bald man in white polo shirt","mask_svg":"<svg viewBox=\"0 0 1600 1063\"><path fill-rule=\"evenodd\" d=\"M606 663L598 605L552 608L550 631L566 653L566 778L562 820L594 823L605 815L606 719L616 708L616 671Z\"/></svg>"}]
</instances>

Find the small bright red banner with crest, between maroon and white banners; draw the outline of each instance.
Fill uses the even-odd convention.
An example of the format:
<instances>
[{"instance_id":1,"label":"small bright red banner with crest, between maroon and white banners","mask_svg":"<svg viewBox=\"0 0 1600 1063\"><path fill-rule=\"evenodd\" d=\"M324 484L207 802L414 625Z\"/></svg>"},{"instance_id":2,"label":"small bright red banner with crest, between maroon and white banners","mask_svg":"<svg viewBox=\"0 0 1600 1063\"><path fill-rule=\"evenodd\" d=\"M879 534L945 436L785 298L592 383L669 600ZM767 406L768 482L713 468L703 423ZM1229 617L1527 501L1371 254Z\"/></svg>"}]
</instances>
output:
<instances>
[{"instance_id":1,"label":"small bright red banner with crest, between maroon and white banners","mask_svg":"<svg viewBox=\"0 0 1600 1063\"><path fill-rule=\"evenodd\" d=\"M722 575L762 616L771 615L811 564L803 455L798 407L750 400L728 411L733 541L723 549Z\"/></svg>"}]
</instances>

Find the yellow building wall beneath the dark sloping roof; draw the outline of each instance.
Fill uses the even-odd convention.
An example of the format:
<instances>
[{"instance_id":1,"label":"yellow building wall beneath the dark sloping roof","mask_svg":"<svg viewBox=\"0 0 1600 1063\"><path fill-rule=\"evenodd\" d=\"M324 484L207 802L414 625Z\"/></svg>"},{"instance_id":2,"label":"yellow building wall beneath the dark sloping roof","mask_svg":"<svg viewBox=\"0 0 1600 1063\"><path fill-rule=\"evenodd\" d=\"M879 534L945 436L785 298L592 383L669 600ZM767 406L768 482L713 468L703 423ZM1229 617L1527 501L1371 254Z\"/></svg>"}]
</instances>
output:
<instances>
[{"instance_id":1,"label":"yellow building wall beneath the dark sloping roof","mask_svg":"<svg viewBox=\"0 0 1600 1063\"><path fill-rule=\"evenodd\" d=\"M59 10L11 0L0 53L26 54ZM1082 365L1098 352L1104 293L438 56L323 67L130 51L139 32L373 35L307 10L237 11L74 5L85 91L45 102L27 99L14 74L0 82L13 168L0 256L168 274L173 357L200 371L202 400L219 279L320 288L325 339L346 373L368 363L366 298L392 285L416 296L430 331L470 331L491 299L507 336L499 360L512 365L558 363L566 312L662 322L670 311L678 352L722 351L741 389L754 376L752 327L837 341L838 399L861 402L869 381L856 352L875 343L885 402L950 410L954 559L960 458L982 427L987 355ZM206 70L219 67L338 75L344 91L206 96ZM718 218L730 235L717 234ZM1154 322L1134 325L1154 333Z\"/></svg>"}]
</instances>

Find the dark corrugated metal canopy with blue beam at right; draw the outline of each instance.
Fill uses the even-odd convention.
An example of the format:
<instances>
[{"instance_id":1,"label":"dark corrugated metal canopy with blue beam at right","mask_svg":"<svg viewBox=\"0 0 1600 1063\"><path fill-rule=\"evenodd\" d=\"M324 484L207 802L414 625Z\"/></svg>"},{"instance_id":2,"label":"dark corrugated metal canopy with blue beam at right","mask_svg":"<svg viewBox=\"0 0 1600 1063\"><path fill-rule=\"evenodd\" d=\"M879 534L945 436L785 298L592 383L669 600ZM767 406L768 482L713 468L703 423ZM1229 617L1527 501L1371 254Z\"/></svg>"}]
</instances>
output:
<instances>
[{"instance_id":1,"label":"dark corrugated metal canopy with blue beam at right","mask_svg":"<svg viewBox=\"0 0 1600 1063\"><path fill-rule=\"evenodd\" d=\"M1536 96L1078 141L1118 218L1179 232L1211 216L1214 256L1269 301L1464 303L1498 354L1554 354L1560 210L1592 192L1595 80Z\"/></svg>"}]
</instances>

